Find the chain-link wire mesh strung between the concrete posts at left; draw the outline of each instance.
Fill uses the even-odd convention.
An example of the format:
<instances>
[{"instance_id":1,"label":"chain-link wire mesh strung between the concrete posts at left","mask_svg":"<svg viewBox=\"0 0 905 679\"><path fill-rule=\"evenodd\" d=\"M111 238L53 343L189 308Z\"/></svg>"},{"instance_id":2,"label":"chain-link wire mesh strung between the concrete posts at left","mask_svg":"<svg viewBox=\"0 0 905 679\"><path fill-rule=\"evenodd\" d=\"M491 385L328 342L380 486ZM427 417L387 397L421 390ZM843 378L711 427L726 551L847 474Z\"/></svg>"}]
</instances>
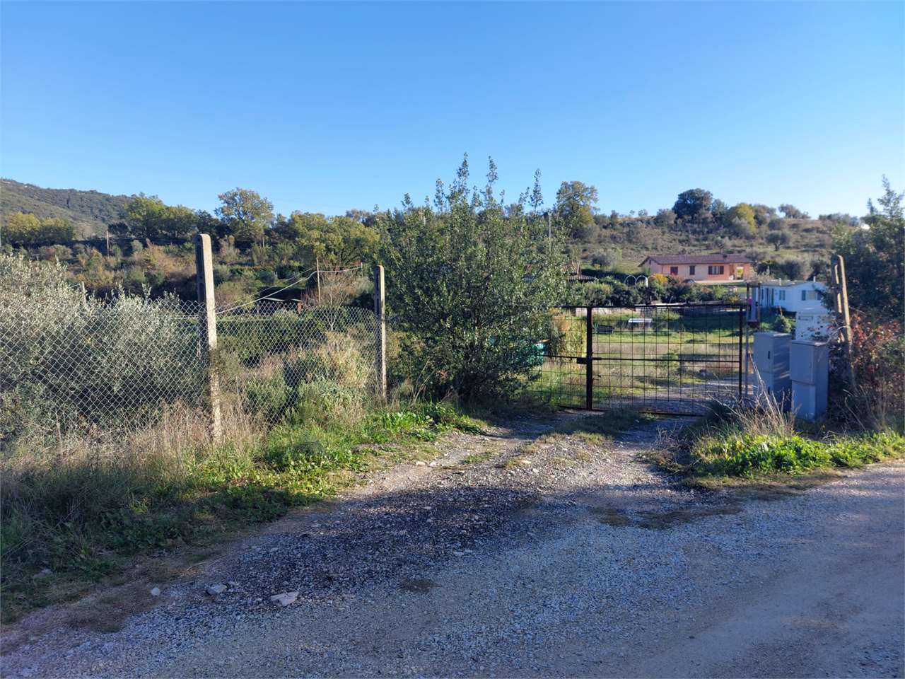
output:
<instances>
[{"instance_id":1,"label":"chain-link wire mesh strung between the concrete posts at left","mask_svg":"<svg viewBox=\"0 0 905 679\"><path fill-rule=\"evenodd\" d=\"M281 420L306 398L362 398L375 385L373 311L258 303L218 313L209 366L198 309L175 297L4 293L0 447L62 445L72 435L100 445L176 413L206 422L209 368L219 375L224 420L259 424Z\"/></svg>"}]
</instances>

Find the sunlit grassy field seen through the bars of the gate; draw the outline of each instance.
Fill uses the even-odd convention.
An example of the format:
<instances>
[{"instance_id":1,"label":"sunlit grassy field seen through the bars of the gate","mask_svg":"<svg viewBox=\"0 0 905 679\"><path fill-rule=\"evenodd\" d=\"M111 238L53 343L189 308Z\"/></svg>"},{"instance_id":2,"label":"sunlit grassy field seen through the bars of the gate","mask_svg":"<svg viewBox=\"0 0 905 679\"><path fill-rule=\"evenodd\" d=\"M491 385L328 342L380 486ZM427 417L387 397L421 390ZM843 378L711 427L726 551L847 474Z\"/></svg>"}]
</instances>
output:
<instances>
[{"instance_id":1,"label":"sunlit grassy field seen through the bars of the gate","mask_svg":"<svg viewBox=\"0 0 905 679\"><path fill-rule=\"evenodd\" d=\"M630 323L639 318L633 311L595 313L595 403L614 397L706 397L730 387L727 380L738 375L738 313L684 311L657 310L643 329ZM557 314L529 390L556 406L585 406L586 337L584 317Z\"/></svg>"}]
</instances>

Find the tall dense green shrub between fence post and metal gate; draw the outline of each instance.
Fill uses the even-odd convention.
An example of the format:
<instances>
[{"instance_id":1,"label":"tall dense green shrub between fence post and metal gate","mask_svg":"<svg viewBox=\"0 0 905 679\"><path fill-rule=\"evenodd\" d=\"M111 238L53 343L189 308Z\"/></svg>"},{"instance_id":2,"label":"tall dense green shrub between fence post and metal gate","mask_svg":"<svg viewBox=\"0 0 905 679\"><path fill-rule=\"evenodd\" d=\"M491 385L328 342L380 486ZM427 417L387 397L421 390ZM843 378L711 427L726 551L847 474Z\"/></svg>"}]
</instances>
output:
<instances>
[{"instance_id":1,"label":"tall dense green shrub between fence post and metal gate","mask_svg":"<svg viewBox=\"0 0 905 679\"><path fill-rule=\"evenodd\" d=\"M524 209L504 210L487 186L470 191L467 158L434 207L381 215L387 304L403 332L400 359L434 397L471 398L517 387L565 294L559 236Z\"/></svg>"}]
</instances>

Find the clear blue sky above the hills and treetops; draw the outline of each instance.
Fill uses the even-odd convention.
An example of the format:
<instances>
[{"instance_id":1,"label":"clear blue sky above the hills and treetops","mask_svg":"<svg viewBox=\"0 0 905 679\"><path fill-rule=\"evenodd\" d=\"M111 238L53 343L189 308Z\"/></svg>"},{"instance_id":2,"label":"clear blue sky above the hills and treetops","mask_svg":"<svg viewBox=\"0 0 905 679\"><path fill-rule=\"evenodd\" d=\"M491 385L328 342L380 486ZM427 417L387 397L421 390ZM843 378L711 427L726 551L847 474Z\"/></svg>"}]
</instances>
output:
<instances>
[{"instance_id":1,"label":"clear blue sky above the hills and treetops","mask_svg":"<svg viewBox=\"0 0 905 679\"><path fill-rule=\"evenodd\" d=\"M467 151L608 212L905 184L905 4L10 3L0 172L213 209L433 195Z\"/></svg>"}]
</instances>

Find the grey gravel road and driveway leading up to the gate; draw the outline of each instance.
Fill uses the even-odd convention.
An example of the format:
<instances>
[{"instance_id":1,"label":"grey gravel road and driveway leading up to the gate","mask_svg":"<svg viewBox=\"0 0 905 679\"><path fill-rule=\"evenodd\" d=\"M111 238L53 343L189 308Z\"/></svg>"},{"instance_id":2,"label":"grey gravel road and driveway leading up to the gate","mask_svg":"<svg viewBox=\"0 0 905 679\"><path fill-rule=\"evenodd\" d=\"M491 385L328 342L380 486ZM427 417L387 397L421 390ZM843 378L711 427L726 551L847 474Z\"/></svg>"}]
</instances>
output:
<instances>
[{"instance_id":1,"label":"grey gravel road and driveway leading up to the gate","mask_svg":"<svg viewBox=\"0 0 905 679\"><path fill-rule=\"evenodd\" d=\"M638 459L682 420L616 443L590 422L453 435L433 463L243 540L117 631L35 614L5 631L3 674L905 673L905 465L778 498L694 493Z\"/></svg>"}]
</instances>

